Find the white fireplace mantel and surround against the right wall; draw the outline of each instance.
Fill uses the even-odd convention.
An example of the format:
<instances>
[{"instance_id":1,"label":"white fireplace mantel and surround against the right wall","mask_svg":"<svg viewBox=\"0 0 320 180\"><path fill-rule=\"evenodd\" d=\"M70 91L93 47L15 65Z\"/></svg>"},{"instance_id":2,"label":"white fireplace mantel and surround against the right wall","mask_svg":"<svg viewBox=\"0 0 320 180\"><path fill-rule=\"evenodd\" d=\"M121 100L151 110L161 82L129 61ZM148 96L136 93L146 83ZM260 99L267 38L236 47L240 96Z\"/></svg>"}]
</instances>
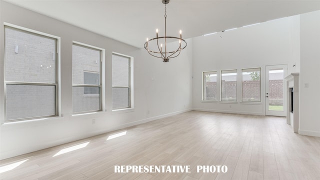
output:
<instances>
[{"instance_id":1,"label":"white fireplace mantel and surround against the right wall","mask_svg":"<svg viewBox=\"0 0 320 180\"><path fill-rule=\"evenodd\" d=\"M287 89L287 109L286 109L286 123L291 124L293 132L298 133L299 131L299 72L293 72L288 76L284 77L286 79L286 89ZM293 115L291 115L291 91L293 88Z\"/></svg>"}]
</instances>

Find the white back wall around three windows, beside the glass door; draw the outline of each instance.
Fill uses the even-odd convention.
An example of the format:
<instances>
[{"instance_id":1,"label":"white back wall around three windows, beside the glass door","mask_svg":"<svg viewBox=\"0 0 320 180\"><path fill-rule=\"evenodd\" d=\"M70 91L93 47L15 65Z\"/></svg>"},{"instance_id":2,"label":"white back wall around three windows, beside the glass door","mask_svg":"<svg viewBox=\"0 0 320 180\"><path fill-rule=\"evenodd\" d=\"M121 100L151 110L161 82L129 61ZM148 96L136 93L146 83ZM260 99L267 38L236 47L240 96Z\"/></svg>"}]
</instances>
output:
<instances>
[{"instance_id":1,"label":"white back wall around three windows, beside the glass door","mask_svg":"<svg viewBox=\"0 0 320 180\"><path fill-rule=\"evenodd\" d=\"M299 16L199 36L192 42L192 106L196 110L264 115L265 65L288 64L288 73L299 72ZM250 67L261 67L261 103L239 102L241 68ZM238 102L202 102L202 71L227 69L238 70Z\"/></svg>"}]
</instances>

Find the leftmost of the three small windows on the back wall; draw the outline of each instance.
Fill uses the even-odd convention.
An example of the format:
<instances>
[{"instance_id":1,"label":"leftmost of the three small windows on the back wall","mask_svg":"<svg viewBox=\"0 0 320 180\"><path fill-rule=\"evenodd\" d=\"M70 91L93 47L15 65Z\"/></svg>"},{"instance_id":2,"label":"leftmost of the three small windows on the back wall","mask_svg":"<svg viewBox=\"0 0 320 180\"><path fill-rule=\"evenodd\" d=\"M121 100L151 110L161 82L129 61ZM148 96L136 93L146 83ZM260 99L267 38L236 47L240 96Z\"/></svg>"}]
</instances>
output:
<instances>
[{"instance_id":1,"label":"leftmost of the three small windows on the back wall","mask_svg":"<svg viewBox=\"0 0 320 180\"><path fill-rule=\"evenodd\" d=\"M216 71L202 72L202 100L216 100Z\"/></svg>"}]
</instances>

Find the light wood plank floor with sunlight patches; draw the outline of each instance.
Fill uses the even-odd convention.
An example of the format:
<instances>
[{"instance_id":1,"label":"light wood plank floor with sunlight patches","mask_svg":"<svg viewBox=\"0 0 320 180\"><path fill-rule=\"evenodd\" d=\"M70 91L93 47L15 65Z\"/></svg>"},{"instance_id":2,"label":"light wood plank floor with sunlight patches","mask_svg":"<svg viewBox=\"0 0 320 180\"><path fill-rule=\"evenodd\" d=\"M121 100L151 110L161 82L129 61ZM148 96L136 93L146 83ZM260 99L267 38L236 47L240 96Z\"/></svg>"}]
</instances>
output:
<instances>
[{"instance_id":1,"label":"light wood plank floor with sunlight patches","mask_svg":"<svg viewBox=\"0 0 320 180\"><path fill-rule=\"evenodd\" d=\"M285 121L274 116L189 111L1 160L1 166L25 161L0 177L320 179L320 137L293 133ZM125 135L106 140L123 131ZM83 143L87 145L82 147ZM71 146L82 148L55 155ZM114 165L190 165L191 172L114 173ZM196 165L227 165L228 171L197 173Z\"/></svg>"}]
</instances>

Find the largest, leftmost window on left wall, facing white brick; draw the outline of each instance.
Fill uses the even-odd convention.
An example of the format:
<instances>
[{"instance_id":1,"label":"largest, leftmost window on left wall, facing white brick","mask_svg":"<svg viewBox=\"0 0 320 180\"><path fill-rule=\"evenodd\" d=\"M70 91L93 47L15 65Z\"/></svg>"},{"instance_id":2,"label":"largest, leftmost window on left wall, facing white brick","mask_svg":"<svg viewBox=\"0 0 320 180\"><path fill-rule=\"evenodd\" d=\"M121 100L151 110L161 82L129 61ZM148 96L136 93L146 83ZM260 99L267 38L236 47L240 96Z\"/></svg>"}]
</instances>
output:
<instances>
[{"instance_id":1,"label":"largest, leftmost window on left wall, facing white brick","mask_svg":"<svg viewBox=\"0 0 320 180\"><path fill-rule=\"evenodd\" d=\"M59 37L4 26L5 121L58 115Z\"/></svg>"}]
</instances>

